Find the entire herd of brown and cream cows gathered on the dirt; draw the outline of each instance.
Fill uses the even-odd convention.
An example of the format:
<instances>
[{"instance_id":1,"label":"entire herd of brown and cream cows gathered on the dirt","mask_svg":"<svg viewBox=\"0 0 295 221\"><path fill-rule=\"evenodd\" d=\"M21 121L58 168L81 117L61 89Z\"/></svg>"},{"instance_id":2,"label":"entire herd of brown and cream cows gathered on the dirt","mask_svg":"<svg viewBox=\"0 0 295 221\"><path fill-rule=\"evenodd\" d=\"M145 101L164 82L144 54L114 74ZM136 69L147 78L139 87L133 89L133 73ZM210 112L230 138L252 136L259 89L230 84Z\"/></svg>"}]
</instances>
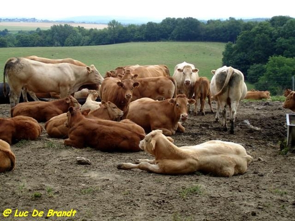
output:
<instances>
[{"instance_id":1,"label":"entire herd of brown and cream cows gathered on the dirt","mask_svg":"<svg viewBox=\"0 0 295 221\"><path fill-rule=\"evenodd\" d=\"M11 144L35 140L45 129L49 137L62 138L67 146L106 152L144 150L154 156L136 164L119 163L118 169L161 174L204 171L226 177L243 174L251 156L237 143L211 140L184 147L173 143L171 136L185 132L181 121L188 120L193 107L197 114L198 100L204 115L206 99L211 112L211 100L216 102L215 121L221 111L225 131L228 106L230 133L235 132L239 102L249 92L243 74L223 66L212 70L209 81L198 72L187 62L177 64L173 76L166 65L129 65L108 71L103 78L94 65L71 58L9 58L3 94L9 88L11 117L0 118L0 172L14 168ZM19 103L21 95L26 101L27 93L34 101ZM39 100L47 95L48 101ZM265 95L269 98L269 92ZM265 98L261 97L257 99Z\"/></svg>"}]
</instances>

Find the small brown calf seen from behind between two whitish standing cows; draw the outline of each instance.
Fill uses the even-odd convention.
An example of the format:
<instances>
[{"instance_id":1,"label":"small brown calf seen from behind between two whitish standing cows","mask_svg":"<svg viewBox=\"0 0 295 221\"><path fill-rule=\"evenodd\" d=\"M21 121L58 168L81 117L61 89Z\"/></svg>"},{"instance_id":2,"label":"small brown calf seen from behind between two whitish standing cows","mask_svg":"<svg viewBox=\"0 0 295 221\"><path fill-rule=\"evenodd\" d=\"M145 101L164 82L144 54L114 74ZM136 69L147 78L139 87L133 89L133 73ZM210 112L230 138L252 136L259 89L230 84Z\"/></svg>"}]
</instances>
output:
<instances>
[{"instance_id":1,"label":"small brown calf seen from behind between two whitish standing cows","mask_svg":"<svg viewBox=\"0 0 295 221\"><path fill-rule=\"evenodd\" d=\"M198 106L198 100L200 99L200 112L205 115L205 101L206 98L208 98L208 104L210 107L211 113L214 113L212 109L211 104L211 93L210 93L210 82L206 77L200 77L197 79L195 85L194 85L194 99L196 100L195 103L195 114L197 114L197 106Z\"/></svg>"}]
</instances>

